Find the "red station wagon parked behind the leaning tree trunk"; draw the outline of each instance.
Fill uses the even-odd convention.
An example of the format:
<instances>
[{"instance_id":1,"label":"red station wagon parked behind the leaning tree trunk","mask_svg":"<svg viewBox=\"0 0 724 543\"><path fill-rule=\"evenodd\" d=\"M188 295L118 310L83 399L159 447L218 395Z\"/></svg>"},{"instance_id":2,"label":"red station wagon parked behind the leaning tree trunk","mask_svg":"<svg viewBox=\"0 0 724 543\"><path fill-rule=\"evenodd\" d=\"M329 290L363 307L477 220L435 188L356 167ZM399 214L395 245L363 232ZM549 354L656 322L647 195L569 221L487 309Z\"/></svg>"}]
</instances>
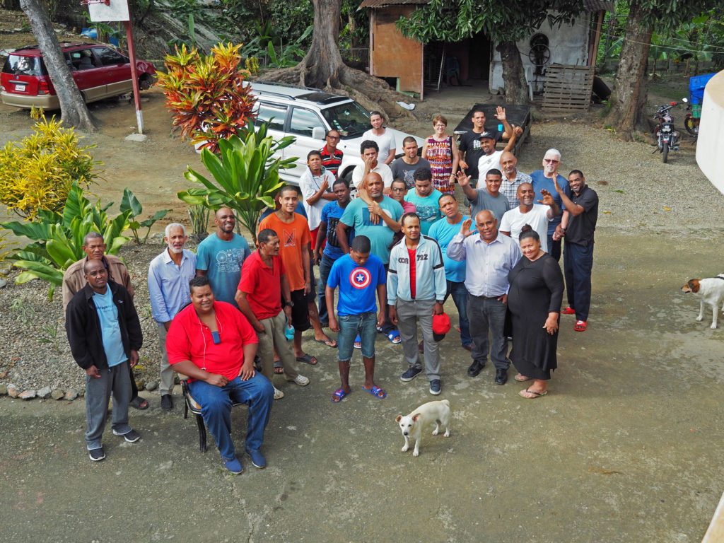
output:
<instances>
[{"instance_id":1,"label":"red station wagon parked behind the leaning tree trunk","mask_svg":"<svg viewBox=\"0 0 724 543\"><path fill-rule=\"evenodd\" d=\"M85 102L130 93L131 64L127 56L101 43L61 43L65 62ZM138 85L147 89L153 84L156 68L151 62L136 60ZM0 100L8 106L59 109L56 96L38 46L17 49L9 54L0 74Z\"/></svg>"}]
</instances>

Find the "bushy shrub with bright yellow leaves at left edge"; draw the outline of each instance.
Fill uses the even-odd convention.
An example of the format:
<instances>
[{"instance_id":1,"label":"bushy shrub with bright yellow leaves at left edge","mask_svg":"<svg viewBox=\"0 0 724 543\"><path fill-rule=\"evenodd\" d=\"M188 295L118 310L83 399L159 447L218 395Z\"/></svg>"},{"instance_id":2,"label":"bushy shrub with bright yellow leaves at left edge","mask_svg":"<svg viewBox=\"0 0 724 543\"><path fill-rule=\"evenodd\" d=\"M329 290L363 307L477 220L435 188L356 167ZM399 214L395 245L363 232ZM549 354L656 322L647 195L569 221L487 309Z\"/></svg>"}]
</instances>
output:
<instances>
[{"instance_id":1,"label":"bushy shrub with bright yellow leaves at left edge","mask_svg":"<svg viewBox=\"0 0 724 543\"><path fill-rule=\"evenodd\" d=\"M41 211L61 211L71 186L88 188L100 172L82 136L34 109L35 132L0 150L0 203L9 211L36 220Z\"/></svg>"}]
</instances>

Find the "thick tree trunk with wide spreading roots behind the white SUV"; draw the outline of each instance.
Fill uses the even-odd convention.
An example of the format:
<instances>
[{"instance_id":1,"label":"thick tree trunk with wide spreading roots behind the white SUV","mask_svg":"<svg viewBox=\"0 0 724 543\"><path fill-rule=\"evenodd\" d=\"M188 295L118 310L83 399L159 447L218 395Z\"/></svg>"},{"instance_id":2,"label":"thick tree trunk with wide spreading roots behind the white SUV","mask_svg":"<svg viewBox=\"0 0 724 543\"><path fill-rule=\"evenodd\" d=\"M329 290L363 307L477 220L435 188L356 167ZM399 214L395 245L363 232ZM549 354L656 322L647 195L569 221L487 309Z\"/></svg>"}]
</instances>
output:
<instances>
[{"instance_id":1,"label":"thick tree trunk with wide spreading roots behind the white SUV","mask_svg":"<svg viewBox=\"0 0 724 543\"><path fill-rule=\"evenodd\" d=\"M264 79L344 94L355 98L368 110L381 109L388 118L390 114L407 114L408 111L395 102L411 101L409 96L395 92L383 80L354 70L342 62L337 46L342 1L313 0L313 4L314 30L306 56L293 68L266 72Z\"/></svg>"}]
</instances>

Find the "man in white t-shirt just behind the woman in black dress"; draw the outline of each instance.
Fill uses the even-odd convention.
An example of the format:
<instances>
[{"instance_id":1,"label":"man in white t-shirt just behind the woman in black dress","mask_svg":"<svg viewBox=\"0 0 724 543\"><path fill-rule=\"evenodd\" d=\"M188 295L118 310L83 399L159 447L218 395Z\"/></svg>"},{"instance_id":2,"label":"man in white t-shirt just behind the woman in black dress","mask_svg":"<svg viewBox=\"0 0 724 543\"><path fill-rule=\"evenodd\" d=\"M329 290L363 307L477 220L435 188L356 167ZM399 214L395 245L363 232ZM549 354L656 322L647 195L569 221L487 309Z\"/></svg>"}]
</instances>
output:
<instances>
[{"instance_id":1,"label":"man in white t-shirt just behind the woman in black dress","mask_svg":"<svg viewBox=\"0 0 724 543\"><path fill-rule=\"evenodd\" d=\"M541 238L541 249L547 253L548 223L550 219L557 216L558 206L547 190L542 189L541 194L543 199L539 200L539 203L542 205L534 203L536 193L533 185L522 183L518 187L518 200L521 201L521 205L505 212L500 222L500 232L518 240L521 229L526 224L530 224Z\"/></svg>"}]
</instances>

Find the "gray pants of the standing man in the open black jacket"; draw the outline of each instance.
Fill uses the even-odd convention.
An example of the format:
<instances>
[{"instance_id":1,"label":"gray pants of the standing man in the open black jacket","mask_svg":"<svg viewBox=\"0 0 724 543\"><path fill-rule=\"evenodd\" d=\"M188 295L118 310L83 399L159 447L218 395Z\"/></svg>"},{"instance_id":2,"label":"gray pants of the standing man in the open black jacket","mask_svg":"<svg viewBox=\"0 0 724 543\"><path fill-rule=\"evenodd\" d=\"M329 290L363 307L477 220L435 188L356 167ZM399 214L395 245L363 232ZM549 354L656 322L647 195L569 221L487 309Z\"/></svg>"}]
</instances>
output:
<instances>
[{"instance_id":1,"label":"gray pants of the standing man in the open black jacket","mask_svg":"<svg viewBox=\"0 0 724 543\"><path fill-rule=\"evenodd\" d=\"M100 377L85 376L85 418L88 420L85 445L88 450L101 447L111 392L113 393L111 428L119 434L131 431L128 425L128 403L131 400L128 361L112 368L98 369L98 373L101 374Z\"/></svg>"}]
</instances>

